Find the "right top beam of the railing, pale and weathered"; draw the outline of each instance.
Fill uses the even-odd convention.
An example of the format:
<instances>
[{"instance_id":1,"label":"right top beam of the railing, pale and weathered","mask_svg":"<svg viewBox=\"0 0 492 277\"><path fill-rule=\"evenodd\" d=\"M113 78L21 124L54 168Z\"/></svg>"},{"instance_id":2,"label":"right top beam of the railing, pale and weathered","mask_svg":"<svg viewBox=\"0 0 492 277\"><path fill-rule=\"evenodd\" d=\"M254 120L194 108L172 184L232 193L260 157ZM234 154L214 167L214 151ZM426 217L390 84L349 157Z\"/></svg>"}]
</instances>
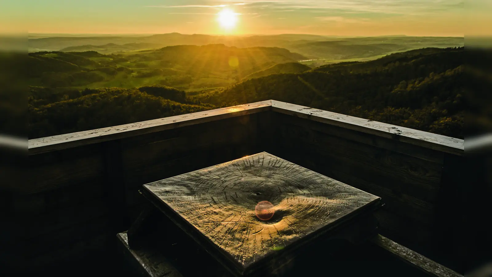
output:
<instances>
[{"instance_id":1,"label":"right top beam of the railing, pale and weathered","mask_svg":"<svg viewBox=\"0 0 492 277\"><path fill-rule=\"evenodd\" d=\"M272 111L299 116L383 138L396 139L455 155L463 155L464 153L464 140L459 138L441 136L387 123L275 100L272 100Z\"/></svg>"}]
</instances>

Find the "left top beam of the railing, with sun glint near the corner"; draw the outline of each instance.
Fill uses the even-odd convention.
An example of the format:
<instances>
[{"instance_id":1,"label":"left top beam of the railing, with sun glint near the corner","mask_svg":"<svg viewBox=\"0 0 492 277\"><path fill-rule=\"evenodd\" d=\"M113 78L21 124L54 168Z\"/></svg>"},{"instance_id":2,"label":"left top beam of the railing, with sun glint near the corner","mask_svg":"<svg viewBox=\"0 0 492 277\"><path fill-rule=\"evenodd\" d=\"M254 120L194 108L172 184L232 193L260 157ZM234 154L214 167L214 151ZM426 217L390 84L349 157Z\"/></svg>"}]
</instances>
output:
<instances>
[{"instance_id":1,"label":"left top beam of the railing, with sun glint near the corner","mask_svg":"<svg viewBox=\"0 0 492 277\"><path fill-rule=\"evenodd\" d=\"M29 140L29 155L87 145L118 138L149 134L178 127L196 125L224 118L242 116L269 110L271 101L243 104L214 110L164 117L90 131L63 134Z\"/></svg>"}]
</instances>

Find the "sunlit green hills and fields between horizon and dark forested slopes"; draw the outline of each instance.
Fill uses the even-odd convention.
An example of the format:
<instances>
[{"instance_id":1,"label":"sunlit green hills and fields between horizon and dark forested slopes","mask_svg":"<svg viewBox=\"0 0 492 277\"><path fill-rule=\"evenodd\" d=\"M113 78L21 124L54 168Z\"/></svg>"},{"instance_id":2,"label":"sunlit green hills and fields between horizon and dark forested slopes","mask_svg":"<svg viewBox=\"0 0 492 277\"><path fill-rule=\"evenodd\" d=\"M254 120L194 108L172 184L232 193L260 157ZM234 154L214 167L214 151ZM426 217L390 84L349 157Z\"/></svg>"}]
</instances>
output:
<instances>
[{"instance_id":1,"label":"sunlit green hills and fields between horizon and dark forested slopes","mask_svg":"<svg viewBox=\"0 0 492 277\"><path fill-rule=\"evenodd\" d=\"M462 37L412 36L204 35L193 39L198 38L181 34L32 37L31 49L57 51L29 54L34 70L28 84L77 89L158 84L194 92L229 87L248 78L298 73L307 70L305 65L371 61L401 51L464 44Z\"/></svg>"}]
</instances>

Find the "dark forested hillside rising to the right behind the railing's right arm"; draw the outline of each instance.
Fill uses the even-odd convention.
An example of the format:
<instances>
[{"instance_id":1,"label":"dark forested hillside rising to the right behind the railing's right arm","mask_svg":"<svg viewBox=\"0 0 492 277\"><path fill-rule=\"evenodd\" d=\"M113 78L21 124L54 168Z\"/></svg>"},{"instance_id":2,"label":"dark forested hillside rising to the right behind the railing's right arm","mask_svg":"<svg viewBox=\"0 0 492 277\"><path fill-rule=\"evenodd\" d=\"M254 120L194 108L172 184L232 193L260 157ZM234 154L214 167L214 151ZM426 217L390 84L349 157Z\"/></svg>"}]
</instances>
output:
<instances>
[{"instance_id":1,"label":"dark forested hillside rising to the right behind the railing's right arm","mask_svg":"<svg viewBox=\"0 0 492 277\"><path fill-rule=\"evenodd\" d=\"M210 104L274 99L463 138L463 47L254 78L195 96Z\"/></svg>"}]
</instances>

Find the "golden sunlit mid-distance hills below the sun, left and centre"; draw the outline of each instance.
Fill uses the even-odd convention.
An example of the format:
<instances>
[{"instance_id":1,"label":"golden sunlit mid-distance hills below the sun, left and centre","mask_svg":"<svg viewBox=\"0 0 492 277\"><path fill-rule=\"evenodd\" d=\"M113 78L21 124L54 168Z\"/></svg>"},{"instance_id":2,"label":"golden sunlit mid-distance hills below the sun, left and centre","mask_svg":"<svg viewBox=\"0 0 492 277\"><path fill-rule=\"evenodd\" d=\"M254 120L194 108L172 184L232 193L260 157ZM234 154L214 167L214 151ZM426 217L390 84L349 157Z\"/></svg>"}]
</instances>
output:
<instances>
[{"instance_id":1,"label":"golden sunlit mid-distance hills below the sun, left and centre","mask_svg":"<svg viewBox=\"0 0 492 277\"><path fill-rule=\"evenodd\" d=\"M77 48L73 48L77 49ZM177 45L153 50L100 54L29 53L28 84L46 87L123 87L161 84L180 89L215 88L253 72L306 57L278 47Z\"/></svg>"}]
</instances>

